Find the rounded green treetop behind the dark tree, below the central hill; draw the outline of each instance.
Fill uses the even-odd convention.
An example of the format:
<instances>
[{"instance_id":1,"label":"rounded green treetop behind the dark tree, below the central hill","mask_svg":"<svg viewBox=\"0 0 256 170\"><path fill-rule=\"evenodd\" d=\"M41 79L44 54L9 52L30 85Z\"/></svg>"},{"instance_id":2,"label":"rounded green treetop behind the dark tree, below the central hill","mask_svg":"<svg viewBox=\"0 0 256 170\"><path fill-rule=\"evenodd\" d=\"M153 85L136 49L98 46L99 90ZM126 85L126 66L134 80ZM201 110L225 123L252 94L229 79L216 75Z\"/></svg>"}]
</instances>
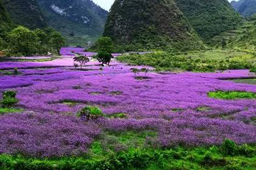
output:
<instances>
[{"instance_id":1,"label":"rounded green treetop behind the dark tree, below the central hill","mask_svg":"<svg viewBox=\"0 0 256 170\"><path fill-rule=\"evenodd\" d=\"M114 44L111 38L108 37L99 38L95 44L95 47L97 48L97 52L106 51L108 53L112 53L114 50Z\"/></svg>"}]
</instances>

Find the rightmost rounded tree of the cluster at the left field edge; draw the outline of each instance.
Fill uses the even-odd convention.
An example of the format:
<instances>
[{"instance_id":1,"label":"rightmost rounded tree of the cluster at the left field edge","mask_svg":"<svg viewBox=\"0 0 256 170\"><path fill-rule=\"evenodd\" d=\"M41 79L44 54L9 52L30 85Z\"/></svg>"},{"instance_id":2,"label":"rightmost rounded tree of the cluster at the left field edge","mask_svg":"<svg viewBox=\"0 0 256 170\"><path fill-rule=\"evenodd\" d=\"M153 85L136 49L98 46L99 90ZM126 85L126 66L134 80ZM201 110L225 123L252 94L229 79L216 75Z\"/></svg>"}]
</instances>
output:
<instances>
[{"instance_id":1,"label":"rightmost rounded tree of the cluster at the left field edge","mask_svg":"<svg viewBox=\"0 0 256 170\"><path fill-rule=\"evenodd\" d=\"M50 34L50 44L55 50L57 50L57 53L60 54L60 49L64 46L65 41L60 33L54 31L52 34Z\"/></svg>"}]
</instances>

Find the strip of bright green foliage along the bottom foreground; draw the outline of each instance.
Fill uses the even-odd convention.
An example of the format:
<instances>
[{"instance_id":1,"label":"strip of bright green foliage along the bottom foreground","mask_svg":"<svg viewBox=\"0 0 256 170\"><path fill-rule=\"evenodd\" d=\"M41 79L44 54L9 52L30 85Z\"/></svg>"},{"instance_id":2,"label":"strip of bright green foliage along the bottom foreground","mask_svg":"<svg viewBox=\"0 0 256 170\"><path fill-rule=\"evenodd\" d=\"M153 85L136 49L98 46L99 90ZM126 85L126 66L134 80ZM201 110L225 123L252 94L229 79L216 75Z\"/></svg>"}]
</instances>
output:
<instances>
[{"instance_id":1,"label":"strip of bright green foliage along the bottom foreground","mask_svg":"<svg viewBox=\"0 0 256 170\"><path fill-rule=\"evenodd\" d=\"M148 134L148 133L145 133ZM151 135L150 135L151 136ZM117 140L125 144L133 139L140 141L140 137L133 133L120 134ZM228 144L229 145L229 144ZM35 159L22 157L21 155L0 155L0 168L4 170L60 170L60 169L255 169L255 146L235 145L235 153L238 148L250 148L251 154L226 155L221 151L223 146L211 148L173 148L173 149L150 149L129 148L125 152L111 152L108 155L104 151L101 142L94 142L91 147L91 158L86 157L62 157L58 159ZM227 146L229 147L229 146ZM232 145L232 151L233 145ZM99 156L101 155L101 156Z\"/></svg>"}]
</instances>

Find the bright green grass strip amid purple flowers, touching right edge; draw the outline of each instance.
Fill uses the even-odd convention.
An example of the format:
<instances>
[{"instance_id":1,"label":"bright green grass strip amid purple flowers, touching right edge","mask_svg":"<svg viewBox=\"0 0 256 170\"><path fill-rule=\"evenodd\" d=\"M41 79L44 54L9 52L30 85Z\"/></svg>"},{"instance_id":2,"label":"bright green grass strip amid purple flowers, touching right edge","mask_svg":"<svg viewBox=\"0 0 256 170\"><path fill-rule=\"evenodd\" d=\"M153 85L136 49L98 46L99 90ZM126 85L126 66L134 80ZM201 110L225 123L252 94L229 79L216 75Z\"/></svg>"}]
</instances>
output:
<instances>
[{"instance_id":1,"label":"bright green grass strip amid purple flowers, touching right edge","mask_svg":"<svg viewBox=\"0 0 256 170\"><path fill-rule=\"evenodd\" d=\"M256 93L246 91L212 91L208 93L209 97L215 99L256 99Z\"/></svg>"}]
</instances>

